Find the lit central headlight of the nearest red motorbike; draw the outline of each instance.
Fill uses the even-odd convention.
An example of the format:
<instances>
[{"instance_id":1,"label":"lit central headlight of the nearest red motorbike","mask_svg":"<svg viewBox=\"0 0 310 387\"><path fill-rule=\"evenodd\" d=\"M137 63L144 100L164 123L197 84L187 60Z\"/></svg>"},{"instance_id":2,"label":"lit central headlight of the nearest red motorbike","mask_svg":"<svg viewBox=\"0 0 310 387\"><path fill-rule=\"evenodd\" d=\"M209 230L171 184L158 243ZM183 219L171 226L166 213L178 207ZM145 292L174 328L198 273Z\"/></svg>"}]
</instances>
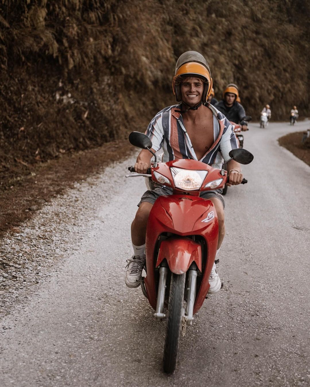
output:
<instances>
[{"instance_id":1,"label":"lit central headlight of the nearest red motorbike","mask_svg":"<svg viewBox=\"0 0 310 387\"><path fill-rule=\"evenodd\" d=\"M181 168L170 168L173 182L176 188L184 191L199 190L208 171L183 170Z\"/></svg>"}]
</instances>

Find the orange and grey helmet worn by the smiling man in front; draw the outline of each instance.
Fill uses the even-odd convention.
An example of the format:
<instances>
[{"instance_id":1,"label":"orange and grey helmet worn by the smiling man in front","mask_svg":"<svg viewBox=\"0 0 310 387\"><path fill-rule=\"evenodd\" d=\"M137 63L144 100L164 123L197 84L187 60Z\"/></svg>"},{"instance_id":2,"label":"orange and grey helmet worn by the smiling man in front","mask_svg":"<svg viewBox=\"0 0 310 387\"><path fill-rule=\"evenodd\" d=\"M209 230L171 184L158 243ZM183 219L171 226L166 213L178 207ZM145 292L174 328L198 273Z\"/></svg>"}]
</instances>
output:
<instances>
[{"instance_id":1,"label":"orange and grey helmet worn by the smiling man in front","mask_svg":"<svg viewBox=\"0 0 310 387\"><path fill-rule=\"evenodd\" d=\"M209 65L206 59L197 51L186 51L176 61L175 76L173 77L172 89L176 101L181 101L181 87L175 82L178 76L202 78L204 91L202 93L202 102L206 102L212 91L212 78Z\"/></svg>"}]
</instances>

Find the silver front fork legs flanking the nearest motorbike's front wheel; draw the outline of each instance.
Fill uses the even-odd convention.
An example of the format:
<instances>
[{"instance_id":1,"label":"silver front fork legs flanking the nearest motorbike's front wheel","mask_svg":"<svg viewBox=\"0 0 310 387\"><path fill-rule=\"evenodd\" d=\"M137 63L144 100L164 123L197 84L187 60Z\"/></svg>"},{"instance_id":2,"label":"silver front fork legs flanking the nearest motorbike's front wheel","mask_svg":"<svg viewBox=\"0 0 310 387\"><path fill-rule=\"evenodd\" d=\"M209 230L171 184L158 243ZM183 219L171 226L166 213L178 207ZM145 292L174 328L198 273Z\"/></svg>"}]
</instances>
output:
<instances>
[{"instance_id":1,"label":"silver front fork legs flanking the nearest motorbike's front wheel","mask_svg":"<svg viewBox=\"0 0 310 387\"><path fill-rule=\"evenodd\" d=\"M156 312L154 313L156 321L160 321L166 317L164 313L164 300L165 292L167 288L167 277L168 277L169 268L166 262L163 262L159 268L159 284L158 284L158 294L157 294L157 305ZM182 334L185 335L186 325L192 325L193 322L193 310L195 304L196 296L196 283L197 283L197 266L193 262L190 265L188 270L188 281L186 289L186 308L183 310L182 316Z\"/></svg>"}]
</instances>

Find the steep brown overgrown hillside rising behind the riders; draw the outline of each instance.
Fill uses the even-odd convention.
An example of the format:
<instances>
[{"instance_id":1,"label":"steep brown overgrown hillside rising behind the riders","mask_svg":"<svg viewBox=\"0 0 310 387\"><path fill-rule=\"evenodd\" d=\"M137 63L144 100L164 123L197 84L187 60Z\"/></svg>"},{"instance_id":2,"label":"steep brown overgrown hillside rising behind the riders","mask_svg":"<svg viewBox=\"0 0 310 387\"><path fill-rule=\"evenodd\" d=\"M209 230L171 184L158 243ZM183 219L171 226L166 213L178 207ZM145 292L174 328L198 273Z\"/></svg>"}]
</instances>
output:
<instances>
[{"instance_id":1,"label":"steep brown overgrown hillside rising behind the riders","mask_svg":"<svg viewBox=\"0 0 310 387\"><path fill-rule=\"evenodd\" d=\"M309 0L0 0L1 175L142 130L174 103L186 50L253 117L265 103L274 119L308 115L309 13Z\"/></svg>"}]
</instances>

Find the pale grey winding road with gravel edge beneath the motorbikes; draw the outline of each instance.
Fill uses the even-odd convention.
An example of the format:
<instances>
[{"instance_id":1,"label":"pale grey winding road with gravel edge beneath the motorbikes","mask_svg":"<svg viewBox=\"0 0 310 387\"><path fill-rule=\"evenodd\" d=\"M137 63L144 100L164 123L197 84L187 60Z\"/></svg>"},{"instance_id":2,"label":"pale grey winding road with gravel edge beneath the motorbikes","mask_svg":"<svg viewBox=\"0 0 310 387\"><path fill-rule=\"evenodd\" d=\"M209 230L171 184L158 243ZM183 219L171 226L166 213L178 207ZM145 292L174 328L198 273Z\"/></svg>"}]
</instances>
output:
<instances>
[{"instance_id":1,"label":"pale grey winding road with gravel edge beneath the motorbikes","mask_svg":"<svg viewBox=\"0 0 310 387\"><path fill-rule=\"evenodd\" d=\"M134 157L76 184L2 240L1 386L310 385L310 167L277 144L309 121L250 125L247 185L228 188L219 274L162 372L165 324L124 284L144 191Z\"/></svg>"}]
</instances>

